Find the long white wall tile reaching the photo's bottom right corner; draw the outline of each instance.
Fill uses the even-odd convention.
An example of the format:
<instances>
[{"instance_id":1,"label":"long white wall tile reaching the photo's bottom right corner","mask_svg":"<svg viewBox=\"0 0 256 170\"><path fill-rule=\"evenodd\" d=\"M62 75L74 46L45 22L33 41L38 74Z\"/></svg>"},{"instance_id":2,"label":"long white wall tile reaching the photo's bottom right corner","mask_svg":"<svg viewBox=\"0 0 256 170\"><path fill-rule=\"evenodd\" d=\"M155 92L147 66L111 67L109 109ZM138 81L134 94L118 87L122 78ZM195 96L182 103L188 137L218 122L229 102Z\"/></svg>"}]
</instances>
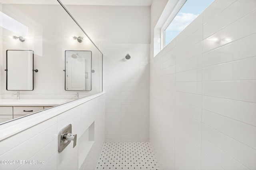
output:
<instances>
[{"instance_id":1,"label":"long white wall tile reaching the photo's bottom right corner","mask_svg":"<svg viewBox=\"0 0 256 170\"><path fill-rule=\"evenodd\" d=\"M202 124L202 136L249 169L255 169L256 150ZM227 161L228 162L228 161Z\"/></svg>"}]
</instances>

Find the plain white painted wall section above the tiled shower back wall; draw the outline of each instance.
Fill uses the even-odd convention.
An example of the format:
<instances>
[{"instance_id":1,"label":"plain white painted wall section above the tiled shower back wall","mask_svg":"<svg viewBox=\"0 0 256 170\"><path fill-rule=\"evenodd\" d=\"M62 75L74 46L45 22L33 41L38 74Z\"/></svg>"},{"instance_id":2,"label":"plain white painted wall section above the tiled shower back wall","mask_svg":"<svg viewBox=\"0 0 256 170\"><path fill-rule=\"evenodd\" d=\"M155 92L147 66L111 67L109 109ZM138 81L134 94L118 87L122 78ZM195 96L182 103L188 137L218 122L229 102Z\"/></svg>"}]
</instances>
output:
<instances>
[{"instance_id":1,"label":"plain white painted wall section above the tiled shower back wall","mask_svg":"<svg viewBox=\"0 0 256 170\"><path fill-rule=\"evenodd\" d=\"M150 6L66 5L92 41L150 43Z\"/></svg>"}]
</instances>

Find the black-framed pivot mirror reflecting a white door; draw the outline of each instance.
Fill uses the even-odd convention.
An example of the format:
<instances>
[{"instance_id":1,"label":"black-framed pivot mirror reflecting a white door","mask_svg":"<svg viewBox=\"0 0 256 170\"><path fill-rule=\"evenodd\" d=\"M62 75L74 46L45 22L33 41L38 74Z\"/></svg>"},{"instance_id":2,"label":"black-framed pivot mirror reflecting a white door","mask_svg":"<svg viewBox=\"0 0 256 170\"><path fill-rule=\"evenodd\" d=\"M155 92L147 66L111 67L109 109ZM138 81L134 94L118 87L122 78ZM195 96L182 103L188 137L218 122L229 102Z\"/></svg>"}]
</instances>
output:
<instances>
[{"instance_id":1,"label":"black-framed pivot mirror reflecting a white door","mask_svg":"<svg viewBox=\"0 0 256 170\"><path fill-rule=\"evenodd\" d=\"M65 51L65 90L92 90L92 51Z\"/></svg>"}]
</instances>

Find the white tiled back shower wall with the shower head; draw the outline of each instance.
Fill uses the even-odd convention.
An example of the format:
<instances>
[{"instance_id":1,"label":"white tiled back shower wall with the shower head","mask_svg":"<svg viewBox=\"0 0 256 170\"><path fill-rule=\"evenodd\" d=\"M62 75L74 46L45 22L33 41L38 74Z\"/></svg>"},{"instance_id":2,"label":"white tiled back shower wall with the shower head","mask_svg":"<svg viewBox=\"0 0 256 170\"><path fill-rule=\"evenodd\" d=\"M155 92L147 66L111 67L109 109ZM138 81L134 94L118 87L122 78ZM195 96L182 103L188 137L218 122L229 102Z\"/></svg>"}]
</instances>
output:
<instances>
[{"instance_id":1,"label":"white tiled back shower wall with the shower head","mask_svg":"<svg viewBox=\"0 0 256 170\"><path fill-rule=\"evenodd\" d=\"M105 67L106 142L148 142L149 44L105 43L100 49Z\"/></svg>"}]
</instances>

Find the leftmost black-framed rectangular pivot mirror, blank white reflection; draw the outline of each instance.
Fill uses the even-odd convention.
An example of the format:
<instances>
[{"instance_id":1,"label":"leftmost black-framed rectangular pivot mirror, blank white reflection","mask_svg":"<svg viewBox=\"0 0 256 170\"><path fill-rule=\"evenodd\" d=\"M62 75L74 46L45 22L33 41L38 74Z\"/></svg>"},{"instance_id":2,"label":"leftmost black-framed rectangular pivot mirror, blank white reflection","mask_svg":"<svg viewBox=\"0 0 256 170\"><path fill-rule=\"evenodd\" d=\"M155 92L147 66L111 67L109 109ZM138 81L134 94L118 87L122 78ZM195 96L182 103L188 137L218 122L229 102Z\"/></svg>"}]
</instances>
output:
<instances>
[{"instance_id":1,"label":"leftmost black-framed rectangular pivot mirror, blank white reflection","mask_svg":"<svg viewBox=\"0 0 256 170\"><path fill-rule=\"evenodd\" d=\"M33 90L33 73L33 50L6 50L6 90Z\"/></svg>"}]
</instances>

